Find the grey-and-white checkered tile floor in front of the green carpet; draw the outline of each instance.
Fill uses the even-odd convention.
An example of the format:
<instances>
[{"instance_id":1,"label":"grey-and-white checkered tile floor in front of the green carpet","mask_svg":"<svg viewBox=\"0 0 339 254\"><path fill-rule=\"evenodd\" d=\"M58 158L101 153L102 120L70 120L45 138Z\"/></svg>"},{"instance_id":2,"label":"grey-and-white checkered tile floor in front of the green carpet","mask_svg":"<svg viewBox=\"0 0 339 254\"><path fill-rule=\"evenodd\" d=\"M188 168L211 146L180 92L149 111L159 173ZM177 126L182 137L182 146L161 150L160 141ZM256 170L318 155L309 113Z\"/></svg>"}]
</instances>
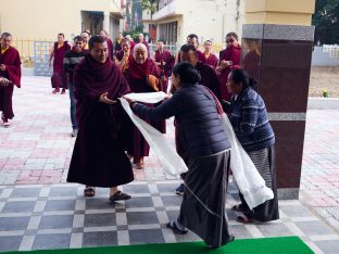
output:
<instances>
[{"instance_id":1,"label":"grey-and-white checkered tile floor in front of the green carpet","mask_svg":"<svg viewBox=\"0 0 339 254\"><path fill-rule=\"evenodd\" d=\"M78 185L0 187L0 251L68 249L199 240L174 234L165 224L178 215L178 181L135 181L123 187L126 202L110 203L108 189L84 198ZM280 219L268 224L237 223L229 207L238 201L230 183L227 214L237 239L299 236L316 253L339 253L339 236L299 201L280 201ZM249 252L250 253L250 252Z\"/></svg>"}]
</instances>

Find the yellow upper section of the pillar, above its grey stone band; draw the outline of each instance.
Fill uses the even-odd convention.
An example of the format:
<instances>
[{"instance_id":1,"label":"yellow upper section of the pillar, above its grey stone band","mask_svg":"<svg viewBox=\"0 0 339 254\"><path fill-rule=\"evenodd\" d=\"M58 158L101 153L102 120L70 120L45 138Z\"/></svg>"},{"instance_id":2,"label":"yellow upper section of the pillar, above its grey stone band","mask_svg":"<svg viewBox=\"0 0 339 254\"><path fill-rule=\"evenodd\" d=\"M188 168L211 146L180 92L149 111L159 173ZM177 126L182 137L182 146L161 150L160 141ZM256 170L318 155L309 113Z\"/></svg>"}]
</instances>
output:
<instances>
[{"instance_id":1,"label":"yellow upper section of the pillar, above its grey stone band","mask_svg":"<svg viewBox=\"0 0 339 254\"><path fill-rule=\"evenodd\" d=\"M315 0L247 0L247 24L311 25Z\"/></svg>"}]
</instances>

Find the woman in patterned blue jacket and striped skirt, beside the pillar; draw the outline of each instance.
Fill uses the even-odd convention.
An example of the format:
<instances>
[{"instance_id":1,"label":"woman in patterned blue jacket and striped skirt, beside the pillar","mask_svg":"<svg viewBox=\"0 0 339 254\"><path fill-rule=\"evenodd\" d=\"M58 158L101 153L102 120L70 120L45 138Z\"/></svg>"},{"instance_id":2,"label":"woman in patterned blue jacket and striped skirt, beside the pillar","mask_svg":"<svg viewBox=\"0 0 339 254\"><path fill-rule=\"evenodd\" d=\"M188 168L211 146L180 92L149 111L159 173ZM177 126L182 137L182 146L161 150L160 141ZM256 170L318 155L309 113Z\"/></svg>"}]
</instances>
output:
<instances>
[{"instance_id":1,"label":"woman in patterned blue jacket and striped skirt, beside the pillar","mask_svg":"<svg viewBox=\"0 0 339 254\"><path fill-rule=\"evenodd\" d=\"M230 72L227 89L233 94L229 120L244 151L249 154L265 183L274 192L274 199L250 209L239 193L241 204L234 211L242 212L237 220L250 223L253 219L269 221L279 218L276 173L274 162L275 136L268 122L265 103L251 87L254 79L243 69Z\"/></svg>"}]
</instances>

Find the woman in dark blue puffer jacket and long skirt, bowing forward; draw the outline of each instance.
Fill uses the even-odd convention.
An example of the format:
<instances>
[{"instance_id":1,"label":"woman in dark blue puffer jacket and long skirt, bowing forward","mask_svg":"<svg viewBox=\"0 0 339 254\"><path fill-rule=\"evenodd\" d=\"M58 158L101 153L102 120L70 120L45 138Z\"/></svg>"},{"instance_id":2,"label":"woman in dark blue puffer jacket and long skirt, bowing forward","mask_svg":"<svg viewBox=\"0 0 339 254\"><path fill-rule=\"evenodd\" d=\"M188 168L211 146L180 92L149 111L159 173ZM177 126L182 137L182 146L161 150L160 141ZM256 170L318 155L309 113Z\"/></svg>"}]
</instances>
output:
<instances>
[{"instance_id":1,"label":"woman in dark blue puffer jacket and long skirt, bowing forward","mask_svg":"<svg viewBox=\"0 0 339 254\"><path fill-rule=\"evenodd\" d=\"M176 118L188 173L180 214L167 227L179 233L186 233L188 228L209 246L218 247L234 240L225 213L230 143L221 125L214 97L204 86L198 85L198 71L183 62L173 68L172 78L177 90L160 106L150 109L129 103L137 115L150 120Z\"/></svg>"}]
</instances>

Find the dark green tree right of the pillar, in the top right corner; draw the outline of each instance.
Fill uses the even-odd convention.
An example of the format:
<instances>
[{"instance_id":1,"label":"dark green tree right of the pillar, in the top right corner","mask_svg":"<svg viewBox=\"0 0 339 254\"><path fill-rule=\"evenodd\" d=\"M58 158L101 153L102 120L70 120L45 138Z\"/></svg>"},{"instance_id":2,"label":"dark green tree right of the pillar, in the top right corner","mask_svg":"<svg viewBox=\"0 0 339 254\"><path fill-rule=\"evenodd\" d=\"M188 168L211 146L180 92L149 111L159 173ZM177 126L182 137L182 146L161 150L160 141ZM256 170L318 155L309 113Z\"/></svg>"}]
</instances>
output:
<instances>
[{"instance_id":1,"label":"dark green tree right of the pillar, in the top right corner","mask_svg":"<svg viewBox=\"0 0 339 254\"><path fill-rule=\"evenodd\" d=\"M339 43L339 0L316 0L312 24L315 43Z\"/></svg>"}]
</instances>

